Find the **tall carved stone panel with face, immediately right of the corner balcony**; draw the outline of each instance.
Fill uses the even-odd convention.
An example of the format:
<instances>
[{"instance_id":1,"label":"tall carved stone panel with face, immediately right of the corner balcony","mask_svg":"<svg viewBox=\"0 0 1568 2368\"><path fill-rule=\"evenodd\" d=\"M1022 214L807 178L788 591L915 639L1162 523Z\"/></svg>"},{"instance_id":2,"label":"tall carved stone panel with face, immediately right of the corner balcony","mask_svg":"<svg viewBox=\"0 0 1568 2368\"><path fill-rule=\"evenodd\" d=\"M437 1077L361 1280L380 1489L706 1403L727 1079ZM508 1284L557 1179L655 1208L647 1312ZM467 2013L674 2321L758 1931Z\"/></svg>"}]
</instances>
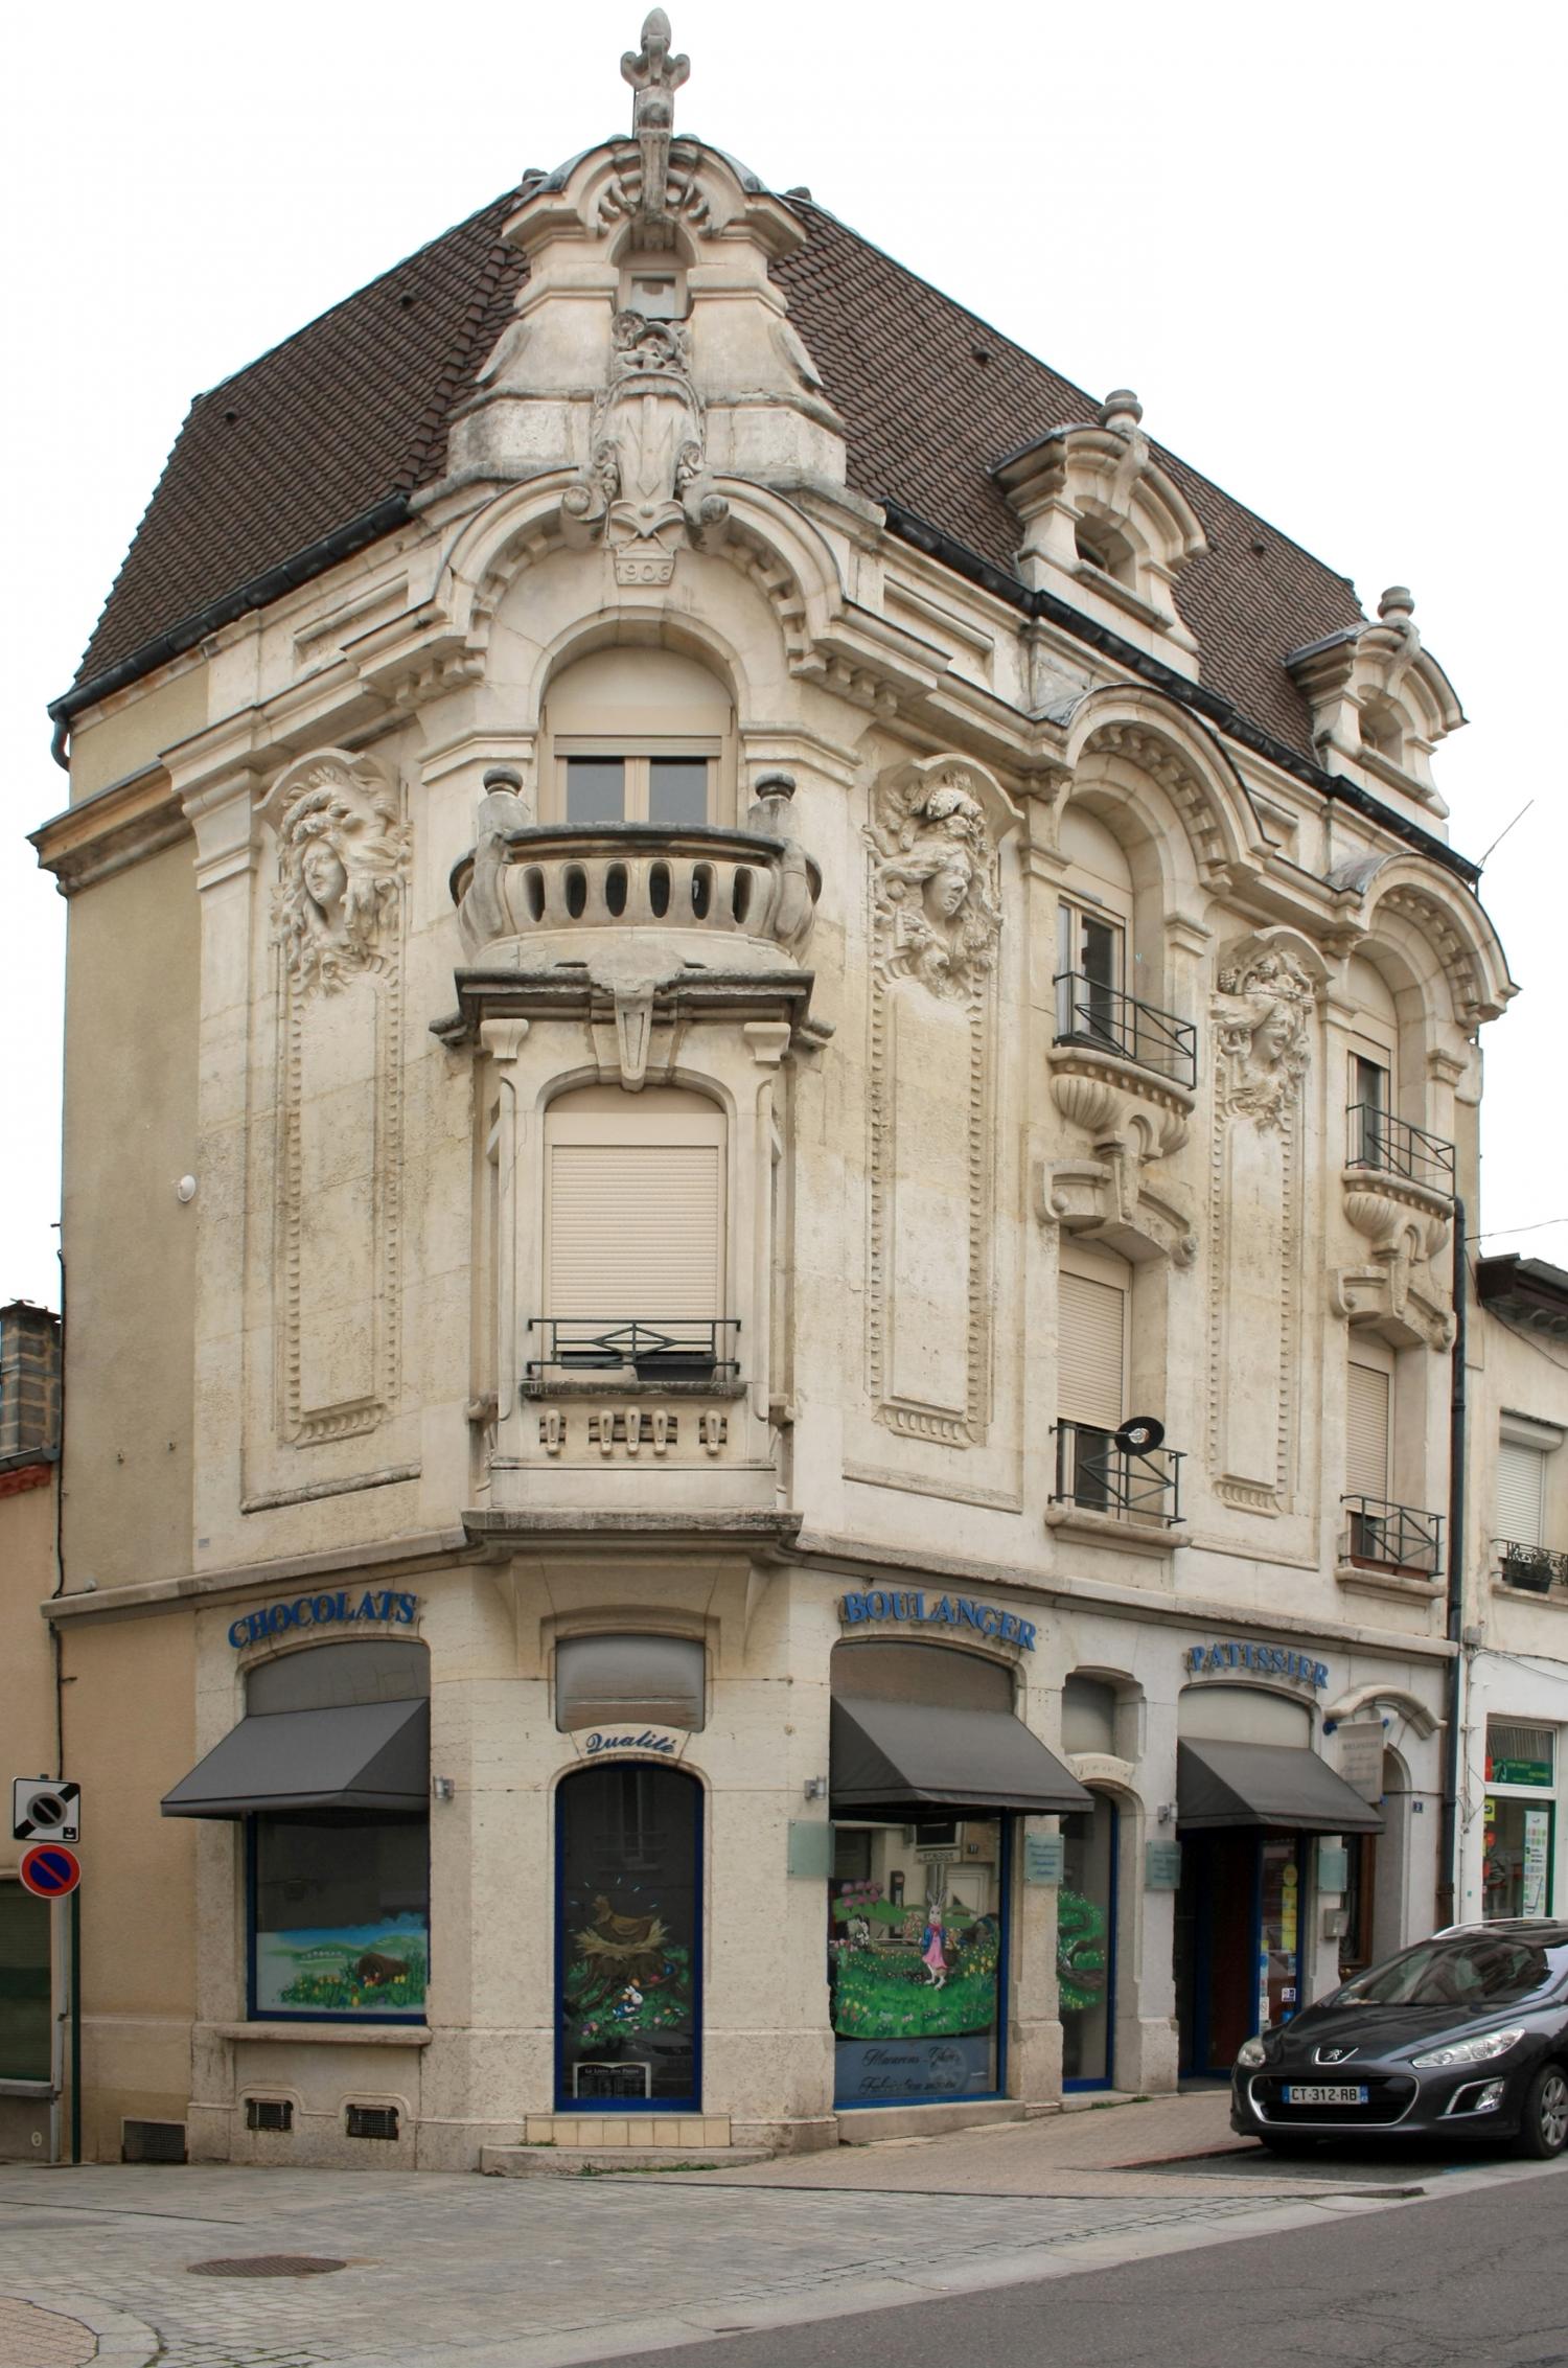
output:
<instances>
[{"instance_id":1,"label":"tall carved stone panel with face, immediately right of the corner balcony","mask_svg":"<svg viewBox=\"0 0 1568 2368\"><path fill-rule=\"evenodd\" d=\"M900 1437L990 1421L997 838L1009 800L959 760L872 798L867 1378Z\"/></svg>"}]
</instances>

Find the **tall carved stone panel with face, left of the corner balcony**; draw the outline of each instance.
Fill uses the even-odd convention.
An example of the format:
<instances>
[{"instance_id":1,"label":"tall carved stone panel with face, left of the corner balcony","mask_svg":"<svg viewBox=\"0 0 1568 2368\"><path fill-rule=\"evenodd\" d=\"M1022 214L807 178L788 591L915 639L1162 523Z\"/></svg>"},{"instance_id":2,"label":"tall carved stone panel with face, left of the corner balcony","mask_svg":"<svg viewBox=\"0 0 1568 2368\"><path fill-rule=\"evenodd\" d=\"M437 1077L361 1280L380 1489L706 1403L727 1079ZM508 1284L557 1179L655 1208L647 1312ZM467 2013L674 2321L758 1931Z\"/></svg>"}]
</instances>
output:
<instances>
[{"instance_id":1,"label":"tall carved stone panel with face, left of the corner balcony","mask_svg":"<svg viewBox=\"0 0 1568 2368\"><path fill-rule=\"evenodd\" d=\"M265 803L277 829L279 1440L374 1430L398 1390L407 826L372 758L327 748Z\"/></svg>"}]
</instances>

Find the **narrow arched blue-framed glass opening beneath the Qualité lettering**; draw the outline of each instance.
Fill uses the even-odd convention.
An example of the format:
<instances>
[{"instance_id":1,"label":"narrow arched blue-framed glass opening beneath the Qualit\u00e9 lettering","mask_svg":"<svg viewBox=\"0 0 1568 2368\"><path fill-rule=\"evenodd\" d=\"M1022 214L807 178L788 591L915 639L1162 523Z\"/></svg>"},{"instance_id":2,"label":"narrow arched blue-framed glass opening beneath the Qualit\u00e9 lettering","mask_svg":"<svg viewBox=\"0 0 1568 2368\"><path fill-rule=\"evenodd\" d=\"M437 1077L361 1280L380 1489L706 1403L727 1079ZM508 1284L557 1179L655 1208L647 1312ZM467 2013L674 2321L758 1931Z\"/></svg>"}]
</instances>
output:
<instances>
[{"instance_id":1,"label":"narrow arched blue-framed glass opening beneath the Qualit\u00e9 lettering","mask_svg":"<svg viewBox=\"0 0 1568 2368\"><path fill-rule=\"evenodd\" d=\"M696 2105L701 1785L647 1762L557 1795L561 2105Z\"/></svg>"}]
</instances>

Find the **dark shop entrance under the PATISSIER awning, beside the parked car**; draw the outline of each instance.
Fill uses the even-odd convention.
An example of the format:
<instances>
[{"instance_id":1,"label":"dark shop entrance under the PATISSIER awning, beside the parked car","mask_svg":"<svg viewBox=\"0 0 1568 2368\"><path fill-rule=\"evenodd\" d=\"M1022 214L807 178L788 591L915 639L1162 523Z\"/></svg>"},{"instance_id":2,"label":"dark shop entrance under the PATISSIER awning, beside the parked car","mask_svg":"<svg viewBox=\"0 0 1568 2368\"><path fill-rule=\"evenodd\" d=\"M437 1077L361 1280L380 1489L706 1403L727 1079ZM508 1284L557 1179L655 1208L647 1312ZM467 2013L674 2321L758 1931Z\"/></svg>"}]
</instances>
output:
<instances>
[{"instance_id":1,"label":"dark shop entrance under the PATISSIER awning, beside the parked car","mask_svg":"<svg viewBox=\"0 0 1568 2368\"><path fill-rule=\"evenodd\" d=\"M1182 2070L1229 2074L1262 2022L1300 2010L1303 1847L1255 1828L1182 1838L1177 2020Z\"/></svg>"}]
</instances>

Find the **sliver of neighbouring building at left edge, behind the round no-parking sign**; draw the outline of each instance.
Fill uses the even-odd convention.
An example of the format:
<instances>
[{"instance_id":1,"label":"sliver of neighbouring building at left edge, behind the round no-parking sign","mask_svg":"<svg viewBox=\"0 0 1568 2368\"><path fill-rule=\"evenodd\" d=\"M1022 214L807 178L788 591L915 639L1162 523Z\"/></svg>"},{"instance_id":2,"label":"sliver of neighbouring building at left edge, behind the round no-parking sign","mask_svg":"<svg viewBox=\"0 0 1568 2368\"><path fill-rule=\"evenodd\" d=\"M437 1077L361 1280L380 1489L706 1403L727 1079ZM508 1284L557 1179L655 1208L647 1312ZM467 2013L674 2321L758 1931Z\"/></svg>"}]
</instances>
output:
<instances>
[{"instance_id":1,"label":"sliver of neighbouring building at left edge, behind the round no-parking sign","mask_svg":"<svg viewBox=\"0 0 1568 2368\"><path fill-rule=\"evenodd\" d=\"M52 1911L19 1883L12 1776L57 1776L54 1591L59 1518L59 1317L0 1307L0 1688L7 1816L0 1823L0 2162L50 2160L54 2089Z\"/></svg>"}]
</instances>

